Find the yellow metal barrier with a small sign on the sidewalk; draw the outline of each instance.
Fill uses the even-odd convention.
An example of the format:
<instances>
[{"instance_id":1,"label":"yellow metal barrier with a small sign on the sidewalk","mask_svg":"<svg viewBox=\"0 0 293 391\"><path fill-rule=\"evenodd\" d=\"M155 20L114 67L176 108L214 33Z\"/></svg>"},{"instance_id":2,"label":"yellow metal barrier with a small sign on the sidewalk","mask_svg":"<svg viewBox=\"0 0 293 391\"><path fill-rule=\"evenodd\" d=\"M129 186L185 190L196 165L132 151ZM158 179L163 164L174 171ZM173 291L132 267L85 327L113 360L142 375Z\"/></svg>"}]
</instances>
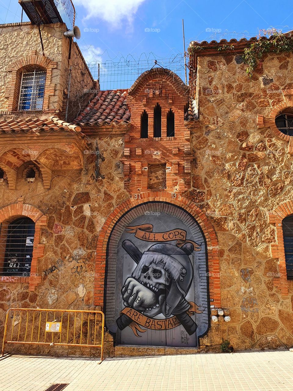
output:
<instances>
[{"instance_id":1,"label":"yellow metal barrier with a small sign on the sidewalk","mask_svg":"<svg viewBox=\"0 0 293 391\"><path fill-rule=\"evenodd\" d=\"M101 321L97 319L101 316ZM6 312L2 356L5 344L63 345L101 348L104 350L102 311L52 310L41 308L9 308ZM101 343L96 336L100 334ZM6 341L8 335L9 340Z\"/></svg>"}]
</instances>

